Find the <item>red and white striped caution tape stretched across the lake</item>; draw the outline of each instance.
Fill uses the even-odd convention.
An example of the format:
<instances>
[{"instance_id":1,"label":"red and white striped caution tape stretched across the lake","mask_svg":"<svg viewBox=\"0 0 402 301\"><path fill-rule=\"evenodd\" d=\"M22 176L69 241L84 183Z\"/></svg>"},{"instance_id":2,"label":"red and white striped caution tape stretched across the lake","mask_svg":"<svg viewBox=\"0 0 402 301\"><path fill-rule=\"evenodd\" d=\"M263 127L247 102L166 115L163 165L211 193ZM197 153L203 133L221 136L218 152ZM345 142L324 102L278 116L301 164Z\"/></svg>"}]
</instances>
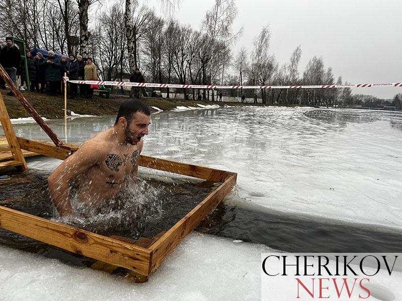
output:
<instances>
[{"instance_id":1,"label":"red and white striped caution tape stretched across the lake","mask_svg":"<svg viewBox=\"0 0 402 301\"><path fill-rule=\"evenodd\" d=\"M131 83L131 82L113 82L103 80L69 80L63 77L64 81L75 84L107 85L107 86L125 86L125 87L154 87L154 88L188 88L188 89L319 89L319 88L371 88L371 87L402 87L400 83L379 83L379 84L343 84L343 85L307 85L307 86L219 86L219 85L180 85L180 84L157 84L157 83Z\"/></svg>"}]
</instances>

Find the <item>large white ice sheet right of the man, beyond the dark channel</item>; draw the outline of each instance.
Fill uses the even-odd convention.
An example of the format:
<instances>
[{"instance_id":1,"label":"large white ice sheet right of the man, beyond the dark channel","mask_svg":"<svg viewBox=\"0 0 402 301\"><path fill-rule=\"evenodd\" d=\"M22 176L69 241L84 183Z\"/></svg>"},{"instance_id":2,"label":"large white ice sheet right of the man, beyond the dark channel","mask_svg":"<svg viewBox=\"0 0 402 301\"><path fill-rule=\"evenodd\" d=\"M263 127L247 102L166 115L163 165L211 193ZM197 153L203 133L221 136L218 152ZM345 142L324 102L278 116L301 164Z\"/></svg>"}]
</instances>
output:
<instances>
[{"instance_id":1,"label":"large white ice sheet right of the man, beyond the dark channel","mask_svg":"<svg viewBox=\"0 0 402 301\"><path fill-rule=\"evenodd\" d=\"M164 116L144 152L237 172L238 206L402 228L401 113L255 107Z\"/></svg>"}]
</instances>

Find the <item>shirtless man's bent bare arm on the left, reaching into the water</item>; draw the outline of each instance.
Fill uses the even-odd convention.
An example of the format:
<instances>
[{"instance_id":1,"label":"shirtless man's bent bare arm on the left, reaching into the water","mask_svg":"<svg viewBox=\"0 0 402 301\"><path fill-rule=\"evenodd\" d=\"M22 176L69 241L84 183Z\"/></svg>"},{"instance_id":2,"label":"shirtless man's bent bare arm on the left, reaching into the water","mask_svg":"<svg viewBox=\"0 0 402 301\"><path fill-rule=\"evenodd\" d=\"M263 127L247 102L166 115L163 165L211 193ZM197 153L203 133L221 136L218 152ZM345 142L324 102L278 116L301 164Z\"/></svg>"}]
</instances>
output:
<instances>
[{"instance_id":1,"label":"shirtless man's bent bare arm on the left, reaching into the water","mask_svg":"<svg viewBox=\"0 0 402 301\"><path fill-rule=\"evenodd\" d=\"M60 216L73 213L69 199L69 182L99 163L103 153L102 147L89 140L82 144L75 154L64 160L49 176L49 193Z\"/></svg>"}]
</instances>

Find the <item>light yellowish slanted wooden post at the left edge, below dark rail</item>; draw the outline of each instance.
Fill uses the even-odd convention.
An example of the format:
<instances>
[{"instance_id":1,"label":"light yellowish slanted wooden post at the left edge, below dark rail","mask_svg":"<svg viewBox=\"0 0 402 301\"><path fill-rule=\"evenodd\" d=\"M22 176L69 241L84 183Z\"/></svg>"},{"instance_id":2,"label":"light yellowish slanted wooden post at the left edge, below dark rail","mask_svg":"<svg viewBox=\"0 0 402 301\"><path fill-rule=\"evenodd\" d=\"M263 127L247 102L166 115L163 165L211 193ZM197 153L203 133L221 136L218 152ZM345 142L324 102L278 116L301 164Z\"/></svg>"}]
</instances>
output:
<instances>
[{"instance_id":1,"label":"light yellowish slanted wooden post at the left edge, below dark rail","mask_svg":"<svg viewBox=\"0 0 402 301\"><path fill-rule=\"evenodd\" d=\"M27 163L25 162L24 155L18 143L16 133L14 131L13 125L11 124L9 112L7 111L6 104L4 103L3 95L0 92L0 122L2 123L4 134L6 135L7 142L11 148L11 155L13 160L0 162L0 169L16 167L20 171L25 171L28 169Z\"/></svg>"}]
</instances>

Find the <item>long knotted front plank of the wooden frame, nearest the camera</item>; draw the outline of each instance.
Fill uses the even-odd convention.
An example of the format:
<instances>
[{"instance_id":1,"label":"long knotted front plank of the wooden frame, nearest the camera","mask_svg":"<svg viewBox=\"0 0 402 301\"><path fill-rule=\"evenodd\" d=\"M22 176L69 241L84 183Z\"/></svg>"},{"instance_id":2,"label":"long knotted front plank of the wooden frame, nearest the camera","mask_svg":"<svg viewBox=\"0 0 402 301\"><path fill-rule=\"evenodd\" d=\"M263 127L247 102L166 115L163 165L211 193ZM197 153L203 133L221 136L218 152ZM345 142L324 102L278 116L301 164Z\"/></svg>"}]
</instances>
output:
<instances>
[{"instance_id":1,"label":"long knotted front plank of the wooden frame, nearest the camera","mask_svg":"<svg viewBox=\"0 0 402 301\"><path fill-rule=\"evenodd\" d=\"M91 257L149 275L152 252L123 241L0 206L0 227Z\"/></svg>"}]
</instances>

